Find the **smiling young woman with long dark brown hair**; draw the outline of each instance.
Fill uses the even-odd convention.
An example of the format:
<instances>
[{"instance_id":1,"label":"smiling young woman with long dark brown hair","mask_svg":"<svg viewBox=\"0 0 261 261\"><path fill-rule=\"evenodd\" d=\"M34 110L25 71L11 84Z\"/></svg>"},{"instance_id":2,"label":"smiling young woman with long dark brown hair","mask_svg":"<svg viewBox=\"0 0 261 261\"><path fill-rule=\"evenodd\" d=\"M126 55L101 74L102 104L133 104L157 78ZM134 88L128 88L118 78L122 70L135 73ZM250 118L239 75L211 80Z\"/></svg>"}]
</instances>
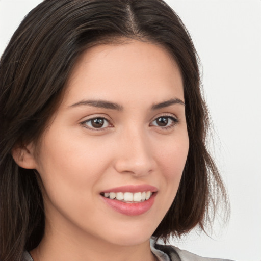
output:
<instances>
[{"instance_id":1,"label":"smiling young woman with long dark brown hair","mask_svg":"<svg viewBox=\"0 0 261 261\"><path fill-rule=\"evenodd\" d=\"M1 261L196 258L155 242L227 204L197 61L160 0L25 17L0 64Z\"/></svg>"}]
</instances>

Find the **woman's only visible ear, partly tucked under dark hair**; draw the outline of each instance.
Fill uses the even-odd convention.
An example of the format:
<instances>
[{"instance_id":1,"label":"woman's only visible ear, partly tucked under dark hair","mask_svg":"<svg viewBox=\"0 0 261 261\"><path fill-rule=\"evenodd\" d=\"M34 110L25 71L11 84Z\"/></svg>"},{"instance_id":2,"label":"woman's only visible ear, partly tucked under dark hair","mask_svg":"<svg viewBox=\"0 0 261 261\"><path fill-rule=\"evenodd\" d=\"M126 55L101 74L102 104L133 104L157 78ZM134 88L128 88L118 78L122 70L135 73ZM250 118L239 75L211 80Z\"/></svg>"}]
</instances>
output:
<instances>
[{"instance_id":1,"label":"woman's only visible ear, partly tucked under dark hair","mask_svg":"<svg viewBox=\"0 0 261 261\"><path fill-rule=\"evenodd\" d=\"M16 164L24 169L36 169L33 143L27 146L17 146L12 149L12 156Z\"/></svg>"}]
</instances>

